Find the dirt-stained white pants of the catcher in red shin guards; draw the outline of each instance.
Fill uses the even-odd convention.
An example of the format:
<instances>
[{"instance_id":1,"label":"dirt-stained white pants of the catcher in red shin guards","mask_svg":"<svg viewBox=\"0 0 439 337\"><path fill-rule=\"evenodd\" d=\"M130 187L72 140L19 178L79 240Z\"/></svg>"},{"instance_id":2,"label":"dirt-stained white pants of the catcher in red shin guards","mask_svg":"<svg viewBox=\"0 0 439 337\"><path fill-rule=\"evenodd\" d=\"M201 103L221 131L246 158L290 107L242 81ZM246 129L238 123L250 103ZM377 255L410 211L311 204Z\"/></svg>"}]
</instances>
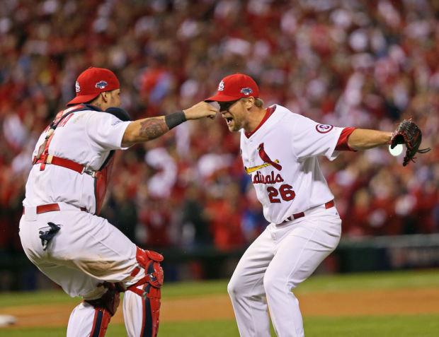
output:
<instances>
[{"instance_id":1,"label":"dirt-stained white pants of the catcher in red shin guards","mask_svg":"<svg viewBox=\"0 0 439 337\"><path fill-rule=\"evenodd\" d=\"M103 281L132 285L144 277L144 270L130 276L137 266L136 245L104 218L59 203L61 211L36 214L25 208L20 221L20 237L25 254L42 273L59 284L72 297L94 300L106 291ZM64 208L64 209L63 209ZM43 250L39 231L47 222L61 229ZM142 297L125 292L123 312L127 336L138 337L144 314ZM95 309L87 302L74 308L67 326L67 337L90 336L96 323Z\"/></svg>"}]
</instances>

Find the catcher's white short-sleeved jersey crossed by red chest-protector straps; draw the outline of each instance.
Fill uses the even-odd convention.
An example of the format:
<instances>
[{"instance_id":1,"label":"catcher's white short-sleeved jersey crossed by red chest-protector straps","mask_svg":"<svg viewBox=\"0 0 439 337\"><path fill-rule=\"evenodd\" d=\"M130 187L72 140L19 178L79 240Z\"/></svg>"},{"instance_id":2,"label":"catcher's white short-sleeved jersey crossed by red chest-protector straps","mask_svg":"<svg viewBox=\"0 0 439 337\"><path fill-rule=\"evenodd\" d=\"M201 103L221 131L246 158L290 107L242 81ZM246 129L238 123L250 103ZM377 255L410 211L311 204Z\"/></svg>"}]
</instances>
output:
<instances>
[{"instance_id":1,"label":"catcher's white short-sleeved jersey crossed by red chest-protector straps","mask_svg":"<svg viewBox=\"0 0 439 337\"><path fill-rule=\"evenodd\" d=\"M76 105L76 109L81 105ZM75 108L73 107L73 108ZM69 110L64 110L64 114ZM122 122L112 114L81 110L65 117L55 129L48 153L85 166L86 172L97 171L110 150L122 149L122 136L130 122ZM42 132L33 151L33 158L44 143L47 129ZM96 212L95 179L86 172L57 165L33 165L25 188L23 206L64 202Z\"/></svg>"}]
</instances>

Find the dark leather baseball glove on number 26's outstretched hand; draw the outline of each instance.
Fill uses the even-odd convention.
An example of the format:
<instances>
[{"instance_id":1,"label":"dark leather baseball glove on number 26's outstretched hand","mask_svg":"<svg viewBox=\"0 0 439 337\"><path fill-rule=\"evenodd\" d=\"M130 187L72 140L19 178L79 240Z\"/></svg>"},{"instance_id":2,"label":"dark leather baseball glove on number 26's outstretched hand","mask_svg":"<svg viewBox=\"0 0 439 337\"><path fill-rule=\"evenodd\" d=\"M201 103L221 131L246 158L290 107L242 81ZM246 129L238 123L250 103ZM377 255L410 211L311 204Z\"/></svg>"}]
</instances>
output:
<instances>
[{"instance_id":1,"label":"dark leather baseball glove on number 26's outstretched hand","mask_svg":"<svg viewBox=\"0 0 439 337\"><path fill-rule=\"evenodd\" d=\"M414 162L416 153L426 153L431 150L431 148L419 150L421 141L422 132L419 126L412 119L404 119L393 132L390 147L394 148L398 144L406 145L406 155L404 156L404 162L402 162L402 165L406 166L410 160Z\"/></svg>"}]
</instances>

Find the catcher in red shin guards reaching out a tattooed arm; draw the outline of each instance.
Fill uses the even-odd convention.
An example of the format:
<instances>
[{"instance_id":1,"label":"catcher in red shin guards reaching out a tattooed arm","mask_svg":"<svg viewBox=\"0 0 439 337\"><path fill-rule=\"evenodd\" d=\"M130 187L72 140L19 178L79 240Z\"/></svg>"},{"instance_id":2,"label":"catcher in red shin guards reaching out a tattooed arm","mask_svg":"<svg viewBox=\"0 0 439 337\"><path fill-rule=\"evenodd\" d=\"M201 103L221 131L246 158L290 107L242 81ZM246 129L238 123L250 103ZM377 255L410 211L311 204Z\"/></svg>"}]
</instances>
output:
<instances>
[{"instance_id":1,"label":"catcher in red shin guards reaching out a tattooed arm","mask_svg":"<svg viewBox=\"0 0 439 337\"><path fill-rule=\"evenodd\" d=\"M187 119L215 117L206 102L130 122L119 108L120 85L108 69L90 67L76 81L76 97L47 126L33 151L20 237L25 254L70 296L68 337L102 337L125 291L127 335L156 336L161 254L144 250L98 216L114 150L149 141Z\"/></svg>"}]
</instances>

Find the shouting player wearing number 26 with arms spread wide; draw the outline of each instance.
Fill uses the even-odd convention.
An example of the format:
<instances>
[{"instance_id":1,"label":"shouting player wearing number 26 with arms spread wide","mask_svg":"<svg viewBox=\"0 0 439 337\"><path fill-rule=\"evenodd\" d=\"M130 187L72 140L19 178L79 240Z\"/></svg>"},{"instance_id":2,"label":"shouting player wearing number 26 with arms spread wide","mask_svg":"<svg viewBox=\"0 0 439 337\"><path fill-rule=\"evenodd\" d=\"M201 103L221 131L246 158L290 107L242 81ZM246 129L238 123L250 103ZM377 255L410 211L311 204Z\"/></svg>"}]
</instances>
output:
<instances>
[{"instance_id":1,"label":"shouting player wearing number 26 with arms spread wide","mask_svg":"<svg viewBox=\"0 0 439 337\"><path fill-rule=\"evenodd\" d=\"M280 105L263 108L249 76L222 79L216 101L230 131L241 131L241 158L269 225L241 257L228 292L241 336L270 336L267 305L280 337L304 336L292 290L336 248L341 219L319 167L340 150L388 143L391 132L319 124Z\"/></svg>"}]
</instances>

